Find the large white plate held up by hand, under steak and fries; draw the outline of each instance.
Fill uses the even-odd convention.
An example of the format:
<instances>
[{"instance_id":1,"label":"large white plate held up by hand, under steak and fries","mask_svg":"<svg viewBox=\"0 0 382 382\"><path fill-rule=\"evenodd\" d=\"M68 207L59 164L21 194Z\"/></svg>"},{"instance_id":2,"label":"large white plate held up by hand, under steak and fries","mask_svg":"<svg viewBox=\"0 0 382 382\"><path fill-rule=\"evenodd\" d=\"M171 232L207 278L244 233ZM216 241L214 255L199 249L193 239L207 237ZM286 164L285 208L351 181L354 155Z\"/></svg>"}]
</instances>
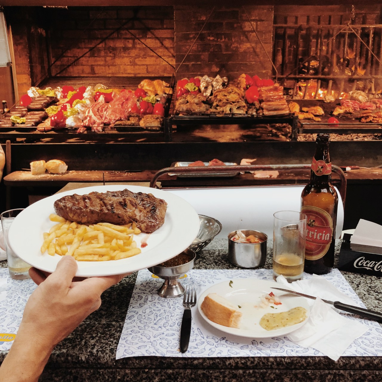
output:
<instances>
[{"instance_id":1,"label":"large white plate held up by hand, under steak and fries","mask_svg":"<svg viewBox=\"0 0 382 382\"><path fill-rule=\"evenodd\" d=\"M92 191L106 192L128 188L130 191L151 193L155 197L167 202L165 222L162 227L147 235L140 233L134 235L137 247L141 248L141 241L147 242L142 253L127 259L113 261L78 261L77 276L107 276L151 267L171 259L184 251L196 238L199 232L199 216L194 208L179 196L167 191L143 186L92 186L66 191L49 196L31 204L22 211L12 223L9 231L9 241L15 253L32 266L53 272L61 256L49 256L47 252L41 254L43 232L49 232L50 227L56 223L49 220L54 214L53 203L65 195L88 194Z\"/></svg>"}]
</instances>

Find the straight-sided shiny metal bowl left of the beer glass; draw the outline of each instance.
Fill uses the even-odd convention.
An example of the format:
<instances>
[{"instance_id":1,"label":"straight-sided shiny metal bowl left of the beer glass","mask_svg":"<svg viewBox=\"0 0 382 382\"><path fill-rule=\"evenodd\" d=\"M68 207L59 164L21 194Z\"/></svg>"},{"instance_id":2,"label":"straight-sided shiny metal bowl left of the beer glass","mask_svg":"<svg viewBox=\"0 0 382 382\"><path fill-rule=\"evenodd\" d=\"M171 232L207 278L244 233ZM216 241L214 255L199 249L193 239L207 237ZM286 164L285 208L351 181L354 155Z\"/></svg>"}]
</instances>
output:
<instances>
[{"instance_id":1,"label":"straight-sided shiny metal bowl left of the beer glass","mask_svg":"<svg viewBox=\"0 0 382 382\"><path fill-rule=\"evenodd\" d=\"M231 240L237 231L241 231L245 236L257 236L261 243L238 243ZM257 268L265 264L267 257L268 236L264 232L253 230L236 230L228 234L228 261L242 268Z\"/></svg>"}]
</instances>

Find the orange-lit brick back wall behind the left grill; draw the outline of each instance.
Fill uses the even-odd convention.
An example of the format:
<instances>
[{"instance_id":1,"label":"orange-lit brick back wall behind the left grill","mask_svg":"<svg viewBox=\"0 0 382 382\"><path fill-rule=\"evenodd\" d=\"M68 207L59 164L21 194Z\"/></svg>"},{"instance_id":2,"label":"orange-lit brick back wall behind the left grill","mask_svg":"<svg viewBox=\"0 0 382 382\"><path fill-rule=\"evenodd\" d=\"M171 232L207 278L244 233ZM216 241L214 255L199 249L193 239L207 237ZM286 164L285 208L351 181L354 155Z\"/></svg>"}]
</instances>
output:
<instances>
[{"instance_id":1,"label":"orange-lit brick back wall behind the left grill","mask_svg":"<svg viewBox=\"0 0 382 382\"><path fill-rule=\"evenodd\" d=\"M48 11L55 20L49 31L51 60L62 56L52 66L52 75L171 76L173 73L168 64L174 65L174 15L170 6ZM89 49L92 50L87 52Z\"/></svg>"}]
</instances>

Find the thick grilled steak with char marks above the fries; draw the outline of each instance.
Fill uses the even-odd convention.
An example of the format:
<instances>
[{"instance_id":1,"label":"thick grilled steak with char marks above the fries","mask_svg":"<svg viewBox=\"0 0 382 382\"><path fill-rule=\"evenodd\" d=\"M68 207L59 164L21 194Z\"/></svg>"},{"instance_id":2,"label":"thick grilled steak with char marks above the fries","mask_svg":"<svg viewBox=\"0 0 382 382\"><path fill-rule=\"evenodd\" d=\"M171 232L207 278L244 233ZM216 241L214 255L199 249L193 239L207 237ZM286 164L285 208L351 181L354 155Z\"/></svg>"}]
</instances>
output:
<instances>
[{"instance_id":1,"label":"thick grilled steak with char marks above the fries","mask_svg":"<svg viewBox=\"0 0 382 382\"><path fill-rule=\"evenodd\" d=\"M153 194L123 191L68 195L54 202L57 215L78 223L135 222L143 232L153 232L165 221L167 203Z\"/></svg>"}]
</instances>

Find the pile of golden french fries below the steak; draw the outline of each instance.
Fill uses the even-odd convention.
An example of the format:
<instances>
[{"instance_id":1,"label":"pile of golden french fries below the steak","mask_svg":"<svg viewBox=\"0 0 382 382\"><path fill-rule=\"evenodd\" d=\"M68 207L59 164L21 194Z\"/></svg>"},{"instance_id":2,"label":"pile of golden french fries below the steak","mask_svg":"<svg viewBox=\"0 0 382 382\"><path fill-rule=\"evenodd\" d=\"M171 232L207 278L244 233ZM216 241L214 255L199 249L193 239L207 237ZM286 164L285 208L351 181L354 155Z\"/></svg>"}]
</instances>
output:
<instances>
[{"instance_id":1,"label":"pile of golden french fries below the steak","mask_svg":"<svg viewBox=\"0 0 382 382\"><path fill-rule=\"evenodd\" d=\"M135 223L115 225L97 223L84 225L51 214L49 219L57 224L44 232L41 253L50 256L71 255L78 261L109 261L125 259L141 253L133 235L141 230Z\"/></svg>"}]
</instances>

